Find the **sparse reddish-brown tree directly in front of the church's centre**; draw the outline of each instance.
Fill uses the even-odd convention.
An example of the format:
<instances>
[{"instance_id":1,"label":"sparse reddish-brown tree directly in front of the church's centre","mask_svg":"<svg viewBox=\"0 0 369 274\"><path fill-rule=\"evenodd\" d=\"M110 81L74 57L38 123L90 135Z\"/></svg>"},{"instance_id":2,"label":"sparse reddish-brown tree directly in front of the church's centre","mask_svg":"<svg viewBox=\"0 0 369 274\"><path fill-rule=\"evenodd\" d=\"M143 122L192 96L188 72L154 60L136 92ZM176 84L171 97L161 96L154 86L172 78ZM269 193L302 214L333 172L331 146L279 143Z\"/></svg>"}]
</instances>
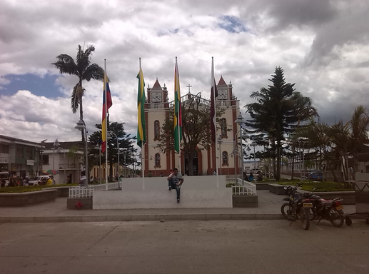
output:
<instances>
[{"instance_id":1,"label":"sparse reddish-brown tree directly in front of the church's centre","mask_svg":"<svg viewBox=\"0 0 369 274\"><path fill-rule=\"evenodd\" d=\"M188 175L193 176L193 158L198 150L206 150L211 146L210 131L210 103L201 98L201 93L191 96L182 103L182 142L181 151L188 158ZM158 148L167 153L174 150L173 107L161 128ZM217 108L217 127L220 127L219 117L224 113L223 108ZM226 129L230 131L229 128Z\"/></svg>"}]
</instances>

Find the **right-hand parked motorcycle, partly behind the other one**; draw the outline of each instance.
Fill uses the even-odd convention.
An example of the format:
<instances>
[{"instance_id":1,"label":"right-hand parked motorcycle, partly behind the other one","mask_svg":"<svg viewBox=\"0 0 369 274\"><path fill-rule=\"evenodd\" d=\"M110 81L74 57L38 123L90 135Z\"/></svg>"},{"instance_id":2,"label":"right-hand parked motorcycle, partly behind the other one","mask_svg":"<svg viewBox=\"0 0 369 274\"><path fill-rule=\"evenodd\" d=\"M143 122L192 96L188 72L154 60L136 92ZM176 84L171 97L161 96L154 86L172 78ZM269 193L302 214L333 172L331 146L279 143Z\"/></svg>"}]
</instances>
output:
<instances>
[{"instance_id":1,"label":"right-hand parked motorcycle, partly behind the other one","mask_svg":"<svg viewBox=\"0 0 369 274\"><path fill-rule=\"evenodd\" d=\"M315 191L316 188L313 189ZM329 220L332 225L337 228L340 228L344 222L344 213L343 213L343 205L340 204L343 201L340 198L334 198L333 200L325 200L320 198L320 196L313 194L313 191L308 193L304 193L303 197L308 198L311 203L313 203L313 220L315 218L319 218L320 220L325 218L325 220Z\"/></svg>"}]
</instances>

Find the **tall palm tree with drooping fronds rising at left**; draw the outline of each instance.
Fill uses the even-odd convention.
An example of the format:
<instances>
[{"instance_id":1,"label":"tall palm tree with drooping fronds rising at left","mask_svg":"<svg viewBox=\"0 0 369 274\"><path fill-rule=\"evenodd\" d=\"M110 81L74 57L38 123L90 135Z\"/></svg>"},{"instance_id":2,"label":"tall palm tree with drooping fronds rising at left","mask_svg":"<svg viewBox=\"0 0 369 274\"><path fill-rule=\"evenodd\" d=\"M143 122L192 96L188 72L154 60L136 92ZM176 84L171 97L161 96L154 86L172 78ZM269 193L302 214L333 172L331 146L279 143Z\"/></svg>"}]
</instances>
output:
<instances>
[{"instance_id":1,"label":"tall palm tree with drooping fronds rising at left","mask_svg":"<svg viewBox=\"0 0 369 274\"><path fill-rule=\"evenodd\" d=\"M84 111L82 105L82 97L84 96L85 89L82 87L82 81L90 81L91 78L95 80L103 81L103 68L97 64L91 64L91 55L95 51L94 46L88 46L86 51L81 48L77 51L76 62L68 54L60 54L56 56L56 61L53 65L59 68L60 73L68 73L69 75L75 75L79 78L78 83L73 88L71 95L71 108L73 113L76 113L79 109L79 115L83 119ZM82 141L84 143L84 132L82 131Z\"/></svg>"}]
</instances>

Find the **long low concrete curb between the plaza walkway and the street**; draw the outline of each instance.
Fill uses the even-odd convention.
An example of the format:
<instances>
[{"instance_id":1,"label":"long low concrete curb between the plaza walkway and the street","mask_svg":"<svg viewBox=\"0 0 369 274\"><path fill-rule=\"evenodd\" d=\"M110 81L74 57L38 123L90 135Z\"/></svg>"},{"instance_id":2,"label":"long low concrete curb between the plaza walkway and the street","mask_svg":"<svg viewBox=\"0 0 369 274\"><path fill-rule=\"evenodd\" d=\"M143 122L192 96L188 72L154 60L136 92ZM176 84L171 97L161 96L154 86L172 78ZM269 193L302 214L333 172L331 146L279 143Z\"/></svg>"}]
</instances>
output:
<instances>
[{"instance_id":1,"label":"long low concrete curb between the plaza walkway and the street","mask_svg":"<svg viewBox=\"0 0 369 274\"><path fill-rule=\"evenodd\" d=\"M124 222L153 220L282 220L279 213L183 213L81 216L0 216L0 223Z\"/></svg>"}]
</instances>

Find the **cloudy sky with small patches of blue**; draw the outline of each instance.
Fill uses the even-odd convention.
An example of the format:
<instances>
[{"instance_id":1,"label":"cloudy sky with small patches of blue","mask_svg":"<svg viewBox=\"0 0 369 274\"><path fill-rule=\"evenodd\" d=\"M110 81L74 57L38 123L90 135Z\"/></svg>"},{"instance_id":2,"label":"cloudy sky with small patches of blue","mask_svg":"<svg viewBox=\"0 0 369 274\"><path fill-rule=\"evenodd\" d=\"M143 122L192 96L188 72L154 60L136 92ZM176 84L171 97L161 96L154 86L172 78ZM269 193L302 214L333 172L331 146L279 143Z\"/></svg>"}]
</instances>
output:
<instances>
[{"instance_id":1,"label":"cloudy sky with small patches of blue","mask_svg":"<svg viewBox=\"0 0 369 274\"><path fill-rule=\"evenodd\" d=\"M369 1L363 0L1 0L0 134L39 142L77 141L70 108L76 76L51 63L93 45L92 63L107 60L111 121L136 135L138 58L146 87L158 78L173 99L175 57L181 93L210 96L216 79L232 81L240 106L268 85L276 66L313 99L323 121L348 121L368 106ZM101 123L103 84L84 82L89 133ZM245 114L245 108L241 109Z\"/></svg>"}]
</instances>

